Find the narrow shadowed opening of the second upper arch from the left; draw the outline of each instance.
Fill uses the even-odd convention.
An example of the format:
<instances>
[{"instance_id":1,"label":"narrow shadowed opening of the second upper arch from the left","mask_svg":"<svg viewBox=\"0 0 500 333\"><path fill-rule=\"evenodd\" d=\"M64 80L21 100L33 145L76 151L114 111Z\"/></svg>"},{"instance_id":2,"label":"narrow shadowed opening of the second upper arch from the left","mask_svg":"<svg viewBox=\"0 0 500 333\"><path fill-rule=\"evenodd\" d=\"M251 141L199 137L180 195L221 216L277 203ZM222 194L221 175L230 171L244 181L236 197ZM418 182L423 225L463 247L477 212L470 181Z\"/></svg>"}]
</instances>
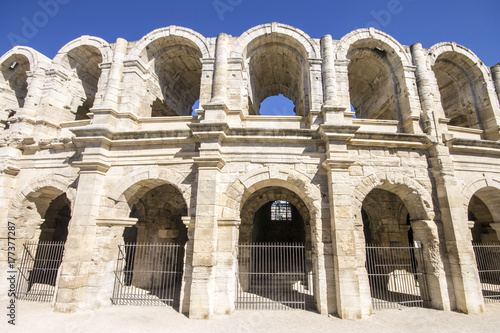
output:
<instances>
[{"instance_id":1,"label":"narrow shadowed opening of the second upper arch from the left","mask_svg":"<svg viewBox=\"0 0 500 333\"><path fill-rule=\"evenodd\" d=\"M88 113L96 99L102 61L101 52L89 45L76 47L63 58L62 65L74 73L70 108L75 120L89 119Z\"/></svg>"}]
</instances>

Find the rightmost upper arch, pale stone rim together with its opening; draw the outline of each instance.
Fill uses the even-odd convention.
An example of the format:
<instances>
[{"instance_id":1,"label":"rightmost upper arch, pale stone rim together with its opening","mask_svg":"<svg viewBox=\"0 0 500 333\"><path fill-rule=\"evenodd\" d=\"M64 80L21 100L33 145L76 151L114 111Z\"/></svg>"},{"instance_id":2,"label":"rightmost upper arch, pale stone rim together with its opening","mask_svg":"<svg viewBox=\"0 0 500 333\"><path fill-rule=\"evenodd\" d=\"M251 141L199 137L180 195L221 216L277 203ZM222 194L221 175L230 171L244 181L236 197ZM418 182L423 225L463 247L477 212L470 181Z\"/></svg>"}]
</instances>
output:
<instances>
[{"instance_id":1,"label":"rightmost upper arch, pale stone rim together with its opening","mask_svg":"<svg viewBox=\"0 0 500 333\"><path fill-rule=\"evenodd\" d=\"M471 50L454 42L435 44L427 66L436 76L450 125L483 130L497 126L498 100L490 70Z\"/></svg>"}]
</instances>

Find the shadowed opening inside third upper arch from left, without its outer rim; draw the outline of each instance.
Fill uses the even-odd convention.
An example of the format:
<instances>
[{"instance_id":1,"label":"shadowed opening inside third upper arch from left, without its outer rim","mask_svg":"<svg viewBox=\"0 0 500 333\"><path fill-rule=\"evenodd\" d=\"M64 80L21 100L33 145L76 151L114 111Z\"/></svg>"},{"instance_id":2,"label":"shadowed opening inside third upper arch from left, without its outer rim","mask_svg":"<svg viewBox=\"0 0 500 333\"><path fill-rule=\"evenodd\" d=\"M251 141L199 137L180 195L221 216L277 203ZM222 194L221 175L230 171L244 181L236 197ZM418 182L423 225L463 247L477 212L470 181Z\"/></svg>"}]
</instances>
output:
<instances>
[{"instance_id":1,"label":"shadowed opening inside third upper arch from left, without its outer rim","mask_svg":"<svg viewBox=\"0 0 500 333\"><path fill-rule=\"evenodd\" d=\"M151 42L142 58L154 73L150 78L151 116L190 116L200 99L201 52L192 41L163 37Z\"/></svg>"}]
</instances>

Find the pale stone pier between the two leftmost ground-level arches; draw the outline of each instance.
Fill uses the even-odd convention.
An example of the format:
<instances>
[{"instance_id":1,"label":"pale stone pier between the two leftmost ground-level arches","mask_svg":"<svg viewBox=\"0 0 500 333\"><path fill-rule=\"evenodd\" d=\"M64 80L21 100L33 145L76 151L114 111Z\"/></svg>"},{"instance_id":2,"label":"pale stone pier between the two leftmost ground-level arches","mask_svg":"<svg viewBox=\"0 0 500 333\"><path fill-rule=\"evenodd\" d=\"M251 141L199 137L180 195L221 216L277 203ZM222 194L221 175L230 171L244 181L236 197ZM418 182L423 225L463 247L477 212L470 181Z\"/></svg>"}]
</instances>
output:
<instances>
[{"instance_id":1,"label":"pale stone pier between the two leftmost ground-level arches","mask_svg":"<svg viewBox=\"0 0 500 333\"><path fill-rule=\"evenodd\" d=\"M84 157L85 159L85 157ZM76 163L75 163L76 164ZM94 271L96 219L109 165L104 162L79 162L80 176L72 219L68 228L64 257L60 269L55 310L73 312L95 308L96 295L89 295L89 275Z\"/></svg>"}]
</instances>

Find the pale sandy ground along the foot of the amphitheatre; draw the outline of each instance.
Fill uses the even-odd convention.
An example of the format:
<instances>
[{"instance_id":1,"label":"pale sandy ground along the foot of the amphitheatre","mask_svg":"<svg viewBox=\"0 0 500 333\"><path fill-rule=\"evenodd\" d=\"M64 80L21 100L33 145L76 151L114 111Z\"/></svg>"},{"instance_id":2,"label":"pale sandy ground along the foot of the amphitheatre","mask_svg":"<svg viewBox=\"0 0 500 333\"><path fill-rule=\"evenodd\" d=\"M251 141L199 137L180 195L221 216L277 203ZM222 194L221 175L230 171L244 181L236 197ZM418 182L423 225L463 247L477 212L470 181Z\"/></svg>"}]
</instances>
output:
<instances>
[{"instance_id":1,"label":"pale sandy ground along the foot of the amphitheatre","mask_svg":"<svg viewBox=\"0 0 500 333\"><path fill-rule=\"evenodd\" d=\"M0 332L500 332L500 303L487 304L481 315L406 308L355 321L306 311L235 311L193 320L170 307L108 306L72 314L56 313L47 303L18 301L17 307L16 326L3 315Z\"/></svg>"}]
</instances>

